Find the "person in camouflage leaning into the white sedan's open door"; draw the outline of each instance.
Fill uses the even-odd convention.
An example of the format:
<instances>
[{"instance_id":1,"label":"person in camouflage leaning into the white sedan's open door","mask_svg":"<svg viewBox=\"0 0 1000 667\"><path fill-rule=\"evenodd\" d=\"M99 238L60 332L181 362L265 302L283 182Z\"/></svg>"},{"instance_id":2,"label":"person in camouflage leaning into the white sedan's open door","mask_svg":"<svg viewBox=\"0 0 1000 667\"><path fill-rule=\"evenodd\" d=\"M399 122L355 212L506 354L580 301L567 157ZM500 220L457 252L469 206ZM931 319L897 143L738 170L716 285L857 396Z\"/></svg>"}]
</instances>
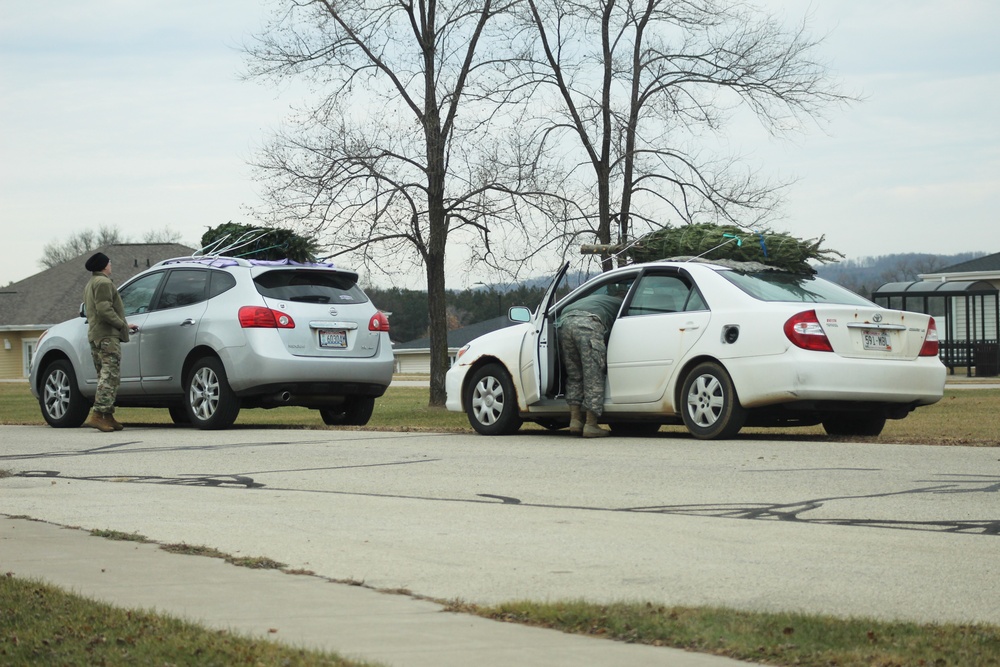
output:
<instances>
[{"instance_id":1,"label":"person in camouflage leaning into the white sedan's open door","mask_svg":"<svg viewBox=\"0 0 1000 667\"><path fill-rule=\"evenodd\" d=\"M607 335L621 304L619 296L592 294L567 306L556 321L559 349L566 366L569 431L585 438L610 435L598 425L598 419L604 412Z\"/></svg>"}]
</instances>

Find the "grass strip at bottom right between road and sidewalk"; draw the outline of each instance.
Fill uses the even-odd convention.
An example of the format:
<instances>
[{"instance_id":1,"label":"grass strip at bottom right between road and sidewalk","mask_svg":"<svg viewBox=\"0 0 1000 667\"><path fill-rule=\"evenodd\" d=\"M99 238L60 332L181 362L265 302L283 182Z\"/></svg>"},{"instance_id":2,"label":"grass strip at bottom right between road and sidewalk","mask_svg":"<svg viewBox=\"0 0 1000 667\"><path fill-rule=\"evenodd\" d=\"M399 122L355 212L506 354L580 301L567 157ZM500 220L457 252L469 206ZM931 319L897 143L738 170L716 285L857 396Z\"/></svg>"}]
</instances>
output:
<instances>
[{"instance_id":1,"label":"grass strip at bottom right between road and sidewalk","mask_svg":"<svg viewBox=\"0 0 1000 667\"><path fill-rule=\"evenodd\" d=\"M584 601L453 603L450 611L623 642L803 667L1000 665L1000 627Z\"/></svg>"}]
</instances>

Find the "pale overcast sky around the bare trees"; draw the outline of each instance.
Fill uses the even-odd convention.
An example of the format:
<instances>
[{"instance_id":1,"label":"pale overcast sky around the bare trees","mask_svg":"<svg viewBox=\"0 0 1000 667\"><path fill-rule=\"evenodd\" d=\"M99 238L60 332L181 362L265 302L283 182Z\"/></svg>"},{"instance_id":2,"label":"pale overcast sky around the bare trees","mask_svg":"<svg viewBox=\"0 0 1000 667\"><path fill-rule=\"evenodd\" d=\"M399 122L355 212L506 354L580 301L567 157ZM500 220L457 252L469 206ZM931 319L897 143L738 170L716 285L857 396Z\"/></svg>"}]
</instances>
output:
<instances>
[{"instance_id":1,"label":"pale overcast sky around the bare trees","mask_svg":"<svg viewBox=\"0 0 1000 667\"><path fill-rule=\"evenodd\" d=\"M797 179L775 225L849 258L1000 252L1000 2L767 0L828 34L820 56L865 101L777 143L737 137ZM0 285L46 243L118 226L197 245L249 222L246 166L298 99L240 80L252 0L0 0ZM448 287L489 276L456 272Z\"/></svg>"}]
</instances>

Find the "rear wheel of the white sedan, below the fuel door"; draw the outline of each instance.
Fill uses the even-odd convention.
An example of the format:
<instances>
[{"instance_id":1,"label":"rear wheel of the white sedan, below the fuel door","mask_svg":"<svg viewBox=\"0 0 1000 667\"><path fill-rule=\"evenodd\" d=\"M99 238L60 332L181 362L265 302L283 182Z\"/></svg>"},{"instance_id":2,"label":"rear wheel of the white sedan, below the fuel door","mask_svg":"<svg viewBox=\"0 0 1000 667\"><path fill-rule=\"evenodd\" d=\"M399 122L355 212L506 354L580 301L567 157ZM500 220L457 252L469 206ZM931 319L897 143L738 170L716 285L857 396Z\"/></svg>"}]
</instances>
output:
<instances>
[{"instance_id":1,"label":"rear wheel of the white sedan, below the fuel door","mask_svg":"<svg viewBox=\"0 0 1000 667\"><path fill-rule=\"evenodd\" d=\"M698 364L688 373L681 390L684 425L696 438L731 438L746 421L733 380L715 362Z\"/></svg>"}]
</instances>

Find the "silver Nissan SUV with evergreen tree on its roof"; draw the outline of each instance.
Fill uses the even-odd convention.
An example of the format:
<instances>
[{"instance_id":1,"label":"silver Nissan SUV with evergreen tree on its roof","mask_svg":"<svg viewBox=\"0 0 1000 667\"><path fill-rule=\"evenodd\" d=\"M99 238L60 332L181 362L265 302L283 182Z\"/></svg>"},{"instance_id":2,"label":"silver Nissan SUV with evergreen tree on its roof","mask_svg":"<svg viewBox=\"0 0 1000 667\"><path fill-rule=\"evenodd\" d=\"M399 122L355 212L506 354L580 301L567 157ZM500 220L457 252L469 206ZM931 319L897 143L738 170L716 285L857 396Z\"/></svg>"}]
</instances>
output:
<instances>
[{"instance_id":1,"label":"silver Nissan SUV with evergreen tree on its roof","mask_svg":"<svg viewBox=\"0 0 1000 667\"><path fill-rule=\"evenodd\" d=\"M117 405L163 407L176 424L232 425L240 408L299 405L327 424L368 423L392 381L389 322L328 264L170 259L122 285L126 319ZM39 339L31 391L51 426L80 426L97 391L87 320Z\"/></svg>"}]
</instances>

